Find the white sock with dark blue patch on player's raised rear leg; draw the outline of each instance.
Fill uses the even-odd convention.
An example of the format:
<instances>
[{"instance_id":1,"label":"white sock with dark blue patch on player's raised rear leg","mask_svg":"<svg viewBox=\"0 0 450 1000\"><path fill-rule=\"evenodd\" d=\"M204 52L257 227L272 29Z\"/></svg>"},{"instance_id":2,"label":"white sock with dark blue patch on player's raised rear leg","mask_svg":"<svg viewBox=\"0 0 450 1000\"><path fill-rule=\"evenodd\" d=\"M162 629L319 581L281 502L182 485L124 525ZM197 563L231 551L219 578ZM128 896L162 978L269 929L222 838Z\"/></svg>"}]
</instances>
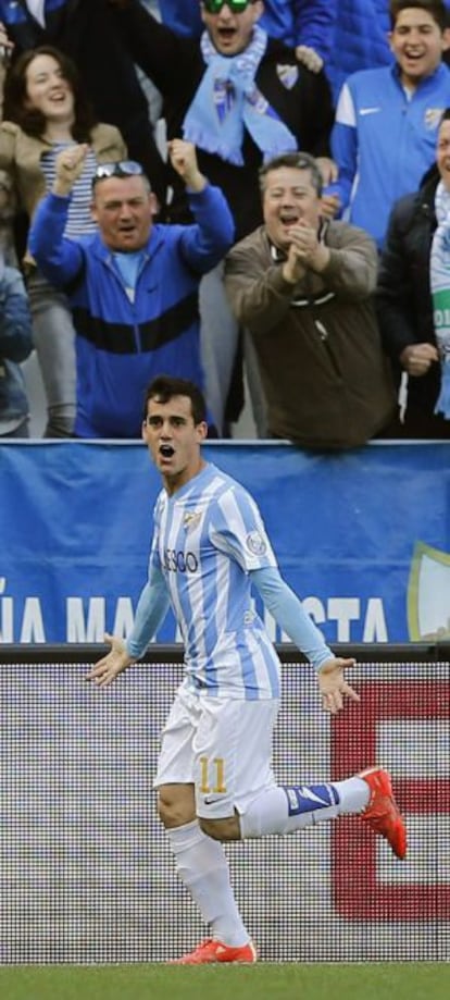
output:
<instances>
[{"instance_id":1,"label":"white sock with dark blue patch on player's raised rear leg","mask_svg":"<svg viewBox=\"0 0 450 1000\"><path fill-rule=\"evenodd\" d=\"M359 813L368 799L370 788L362 778L333 785L274 786L240 816L241 834L243 838L292 834L342 813Z\"/></svg>"}]
</instances>

